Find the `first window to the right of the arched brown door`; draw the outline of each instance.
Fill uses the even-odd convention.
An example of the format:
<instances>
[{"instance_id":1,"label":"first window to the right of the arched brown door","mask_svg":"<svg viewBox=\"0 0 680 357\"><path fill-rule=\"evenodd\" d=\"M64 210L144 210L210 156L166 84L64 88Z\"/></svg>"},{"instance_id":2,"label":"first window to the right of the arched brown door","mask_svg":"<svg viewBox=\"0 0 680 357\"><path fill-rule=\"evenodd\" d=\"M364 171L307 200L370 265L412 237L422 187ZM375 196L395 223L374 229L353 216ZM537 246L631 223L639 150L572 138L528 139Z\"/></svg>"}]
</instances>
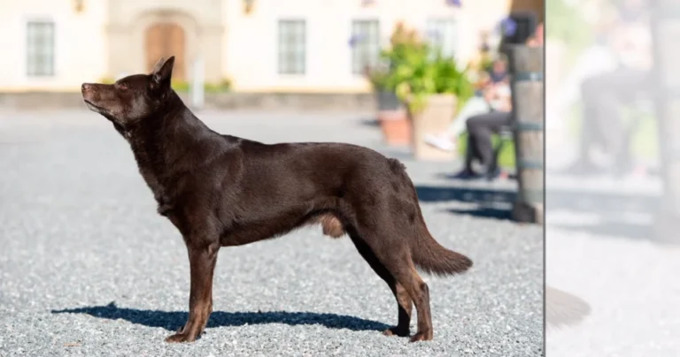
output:
<instances>
[{"instance_id":1,"label":"first window to the right of the arched brown door","mask_svg":"<svg viewBox=\"0 0 680 357\"><path fill-rule=\"evenodd\" d=\"M304 19L279 20L279 74L305 74L305 27Z\"/></svg>"}]
</instances>

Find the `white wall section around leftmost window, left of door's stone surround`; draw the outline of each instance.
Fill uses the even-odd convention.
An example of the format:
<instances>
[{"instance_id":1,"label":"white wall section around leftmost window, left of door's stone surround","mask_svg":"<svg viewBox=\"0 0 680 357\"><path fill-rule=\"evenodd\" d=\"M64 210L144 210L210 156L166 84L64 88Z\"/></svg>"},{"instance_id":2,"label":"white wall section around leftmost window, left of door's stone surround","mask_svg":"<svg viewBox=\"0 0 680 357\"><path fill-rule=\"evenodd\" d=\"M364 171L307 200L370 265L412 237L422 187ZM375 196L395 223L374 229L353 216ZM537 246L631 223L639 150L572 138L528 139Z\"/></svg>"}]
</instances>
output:
<instances>
[{"instance_id":1,"label":"white wall section around leftmost window, left of door's stone surround","mask_svg":"<svg viewBox=\"0 0 680 357\"><path fill-rule=\"evenodd\" d=\"M105 1L87 1L73 11L70 0L0 0L0 90L64 90L106 72ZM26 69L28 19L55 22L55 75L29 78Z\"/></svg>"}]
</instances>

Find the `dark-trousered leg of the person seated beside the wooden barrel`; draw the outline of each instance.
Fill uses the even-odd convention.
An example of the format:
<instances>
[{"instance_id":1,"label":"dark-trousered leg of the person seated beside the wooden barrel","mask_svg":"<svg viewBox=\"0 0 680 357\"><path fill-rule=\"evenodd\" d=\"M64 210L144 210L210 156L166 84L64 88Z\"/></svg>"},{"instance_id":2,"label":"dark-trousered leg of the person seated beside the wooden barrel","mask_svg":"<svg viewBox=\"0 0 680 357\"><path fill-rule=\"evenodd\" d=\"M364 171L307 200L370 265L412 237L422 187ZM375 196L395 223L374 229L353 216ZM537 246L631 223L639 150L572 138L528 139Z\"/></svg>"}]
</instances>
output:
<instances>
[{"instance_id":1,"label":"dark-trousered leg of the person seated beside the wooden barrel","mask_svg":"<svg viewBox=\"0 0 680 357\"><path fill-rule=\"evenodd\" d=\"M468 119L468 145L479 158L486 175L497 175L491 172L493 165L493 144L491 134L498 133L503 125L508 125L512 115L506 111L493 111Z\"/></svg>"}]
</instances>

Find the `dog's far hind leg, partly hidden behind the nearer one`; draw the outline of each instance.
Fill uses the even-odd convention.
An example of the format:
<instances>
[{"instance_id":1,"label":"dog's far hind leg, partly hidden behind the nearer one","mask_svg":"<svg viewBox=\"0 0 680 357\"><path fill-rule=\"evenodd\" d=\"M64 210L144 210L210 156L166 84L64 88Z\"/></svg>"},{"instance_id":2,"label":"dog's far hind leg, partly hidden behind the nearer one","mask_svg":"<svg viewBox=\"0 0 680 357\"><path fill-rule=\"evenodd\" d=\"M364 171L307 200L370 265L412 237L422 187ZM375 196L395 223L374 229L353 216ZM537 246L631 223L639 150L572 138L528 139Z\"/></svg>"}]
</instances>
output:
<instances>
[{"instance_id":1,"label":"dog's far hind leg, partly hidden behind the nearer one","mask_svg":"<svg viewBox=\"0 0 680 357\"><path fill-rule=\"evenodd\" d=\"M411 334L411 313L413 311L413 302L409 297L408 293L404 289L404 286L398 284L397 280L392 276L389 270L385 268L382 262L378 260L371 250L359 237L352 237L352 242L354 246L359 250L359 254L368 262L368 265L375 271L379 277L383 278L385 283L390 286L390 290L397 299L398 308L398 323L397 326L391 327L390 329L384 330L383 334L388 336L400 336L406 337Z\"/></svg>"}]
</instances>

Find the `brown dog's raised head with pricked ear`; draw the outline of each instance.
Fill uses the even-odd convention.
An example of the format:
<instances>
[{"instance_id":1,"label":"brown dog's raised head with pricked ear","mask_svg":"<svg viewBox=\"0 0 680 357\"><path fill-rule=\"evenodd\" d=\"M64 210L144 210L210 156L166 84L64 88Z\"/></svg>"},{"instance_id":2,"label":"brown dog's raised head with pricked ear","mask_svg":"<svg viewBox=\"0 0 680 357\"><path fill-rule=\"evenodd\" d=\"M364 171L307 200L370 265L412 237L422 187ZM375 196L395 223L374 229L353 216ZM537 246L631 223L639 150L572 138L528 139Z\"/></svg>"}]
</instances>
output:
<instances>
[{"instance_id":1,"label":"brown dog's raised head with pricked ear","mask_svg":"<svg viewBox=\"0 0 680 357\"><path fill-rule=\"evenodd\" d=\"M83 83L82 99L90 110L125 128L166 107L173 97L173 65L174 57L160 58L150 74L134 74L113 84Z\"/></svg>"}]
</instances>

